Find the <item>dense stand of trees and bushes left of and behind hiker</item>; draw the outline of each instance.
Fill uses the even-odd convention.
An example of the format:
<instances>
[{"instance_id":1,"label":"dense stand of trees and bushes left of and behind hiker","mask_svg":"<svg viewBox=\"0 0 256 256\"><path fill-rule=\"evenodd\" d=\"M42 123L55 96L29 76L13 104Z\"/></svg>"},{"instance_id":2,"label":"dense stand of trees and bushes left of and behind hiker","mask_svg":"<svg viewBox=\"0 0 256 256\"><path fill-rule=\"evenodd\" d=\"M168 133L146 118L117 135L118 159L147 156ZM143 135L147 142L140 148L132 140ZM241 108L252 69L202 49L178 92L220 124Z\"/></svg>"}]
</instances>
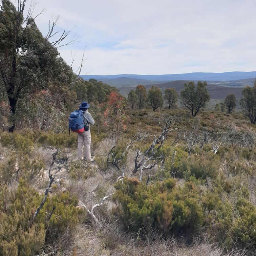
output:
<instances>
[{"instance_id":1,"label":"dense stand of trees and bushes left of and behind hiker","mask_svg":"<svg viewBox=\"0 0 256 256\"><path fill-rule=\"evenodd\" d=\"M67 124L67 115L78 102L95 99L101 104L115 88L94 79L84 81L75 74L58 52L58 46L68 43L63 41L67 35L52 42L51 37L57 32L52 24L48 35L43 36L32 14L23 13L25 1L22 4L18 9L7 0L1 4L3 129L14 130L16 126L18 130L60 130L58 124ZM83 60L80 69L82 64Z\"/></svg>"}]
</instances>

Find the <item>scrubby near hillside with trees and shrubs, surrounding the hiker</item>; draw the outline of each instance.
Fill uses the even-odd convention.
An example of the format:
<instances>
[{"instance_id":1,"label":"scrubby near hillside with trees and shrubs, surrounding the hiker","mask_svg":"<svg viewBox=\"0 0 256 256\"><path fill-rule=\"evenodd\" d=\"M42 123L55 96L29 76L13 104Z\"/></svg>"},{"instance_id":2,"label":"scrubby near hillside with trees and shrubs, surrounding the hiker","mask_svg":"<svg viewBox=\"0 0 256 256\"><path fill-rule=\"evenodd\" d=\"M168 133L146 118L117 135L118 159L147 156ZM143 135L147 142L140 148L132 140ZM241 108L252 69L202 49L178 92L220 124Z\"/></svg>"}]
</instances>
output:
<instances>
[{"instance_id":1,"label":"scrubby near hillside with trees and shrubs, surrounding the hiker","mask_svg":"<svg viewBox=\"0 0 256 256\"><path fill-rule=\"evenodd\" d=\"M68 34L43 35L25 4L0 5L0 256L255 255L256 82L210 111L203 81L126 99L84 81L83 56L75 73ZM81 101L93 161L68 133Z\"/></svg>"}]
</instances>

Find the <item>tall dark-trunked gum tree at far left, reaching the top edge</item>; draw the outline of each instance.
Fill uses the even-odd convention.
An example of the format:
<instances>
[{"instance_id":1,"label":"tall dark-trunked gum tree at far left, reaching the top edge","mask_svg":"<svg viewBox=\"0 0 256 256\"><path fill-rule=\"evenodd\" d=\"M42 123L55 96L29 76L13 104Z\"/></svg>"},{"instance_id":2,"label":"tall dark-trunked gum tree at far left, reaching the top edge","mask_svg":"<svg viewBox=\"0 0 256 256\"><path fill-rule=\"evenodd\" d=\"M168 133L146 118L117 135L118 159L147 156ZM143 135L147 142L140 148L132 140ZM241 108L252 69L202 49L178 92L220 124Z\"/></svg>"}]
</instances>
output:
<instances>
[{"instance_id":1,"label":"tall dark-trunked gum tree at far left, reaching the top edge","mask_svg":"<svg viewBox=\"0 0 256 256\"><path fill-rule=\"evenodd\" d=\"M49 23L49 33L44 37L32 17L33 5L24 15L26 0L16 3L17 8L8 0L0 4L0 83L13 114L22 94L49 89L52 94L63 96L67 91L64 86L77 79L57 50L70 31L49 42L58 33L54 32L56 21L52 29ZM14 126L15 123L10 131Z\"/></svg>"}]
</instances>

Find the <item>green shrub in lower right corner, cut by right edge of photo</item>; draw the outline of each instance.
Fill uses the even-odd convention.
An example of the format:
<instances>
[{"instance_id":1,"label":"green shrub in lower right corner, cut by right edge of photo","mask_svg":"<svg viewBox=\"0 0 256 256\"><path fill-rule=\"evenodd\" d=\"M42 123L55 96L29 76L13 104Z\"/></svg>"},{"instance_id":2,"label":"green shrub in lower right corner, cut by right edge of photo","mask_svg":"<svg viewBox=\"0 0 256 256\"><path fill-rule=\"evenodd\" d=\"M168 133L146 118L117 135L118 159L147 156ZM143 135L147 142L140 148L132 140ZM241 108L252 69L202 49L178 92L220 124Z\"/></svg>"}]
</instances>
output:
<instances>
[{"instance_id":1,"label":"green shrub in lower right corner, cut by right edge of photo","mask_svg":"<svg viewBox=\"0 0 256 256\"><path fill-rule=\"evenodd\" d=\"M223 247L252 249L256 242L256 207L249 201L249 191L237 181L227 180L223 196L218 189L206 191L202 197L205 213L205 228L210 237ZM238 185L239 183L239 185Z\"/></svg>"}]
</instances>

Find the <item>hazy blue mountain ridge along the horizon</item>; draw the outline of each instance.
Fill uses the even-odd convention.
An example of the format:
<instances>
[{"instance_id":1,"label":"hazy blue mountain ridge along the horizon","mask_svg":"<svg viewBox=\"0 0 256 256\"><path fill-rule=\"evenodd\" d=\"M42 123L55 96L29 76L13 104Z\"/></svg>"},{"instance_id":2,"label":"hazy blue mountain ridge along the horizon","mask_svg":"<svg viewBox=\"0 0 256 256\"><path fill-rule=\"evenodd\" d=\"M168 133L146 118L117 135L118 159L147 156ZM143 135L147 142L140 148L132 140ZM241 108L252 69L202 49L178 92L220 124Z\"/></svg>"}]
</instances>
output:
<instances>
[{"instance_id":1,"label":"hazy blue mountain ridge along the horizon","mask_svg":"<svg viewBox=\"0 0 256 256\"><path fill-rule=\"evenodd\" d=\"M91 78L101 79L116 79L116 78L133 78L143 79L150 81L178 81L178 80L212 80L212 81L229 81L238 79L256 78L256 71L244 72L244 71L232 71L223 73L214 72L193 72L183 74L162 74L162 75L141 75L141 74L116 74L116 75L81 75L84 80Z\"/></svg>"}]
</instances>

